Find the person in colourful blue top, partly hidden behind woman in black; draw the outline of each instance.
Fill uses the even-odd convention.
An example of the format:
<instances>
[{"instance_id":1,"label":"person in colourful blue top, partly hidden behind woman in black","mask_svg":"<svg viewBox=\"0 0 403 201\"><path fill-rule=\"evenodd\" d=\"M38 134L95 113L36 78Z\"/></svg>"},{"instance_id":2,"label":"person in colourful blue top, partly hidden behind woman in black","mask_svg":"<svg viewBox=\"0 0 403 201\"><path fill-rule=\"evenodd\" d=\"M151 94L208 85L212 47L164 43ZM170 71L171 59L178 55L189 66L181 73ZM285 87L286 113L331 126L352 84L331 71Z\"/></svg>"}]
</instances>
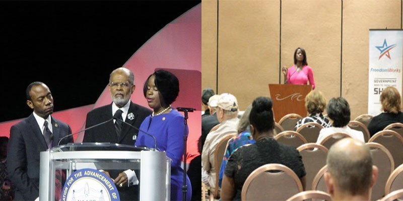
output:
<instances>
[{"instance_id":1,"label":"person in colourful blue top, partly hidden behind woman in black","mask_svg":"<svg viewBox=\"0 0 403 201\"><path fill-rule=\"evenodd\" d=\"M221 187L221 182L224 176L225 166L227 165L228 158L231 156L234 151L236 151L239 147L246 144L253 144L255 140L250 136L250 128L249 128L249 114L252 110L252 105L249 105L246 110L243 112L241 119L238 122L238 134L236 138L232 138L228 141L227 150L223 157L223 162L221 163L220 175L218 177L218 185Z\"/></svg>"}]
</instances>

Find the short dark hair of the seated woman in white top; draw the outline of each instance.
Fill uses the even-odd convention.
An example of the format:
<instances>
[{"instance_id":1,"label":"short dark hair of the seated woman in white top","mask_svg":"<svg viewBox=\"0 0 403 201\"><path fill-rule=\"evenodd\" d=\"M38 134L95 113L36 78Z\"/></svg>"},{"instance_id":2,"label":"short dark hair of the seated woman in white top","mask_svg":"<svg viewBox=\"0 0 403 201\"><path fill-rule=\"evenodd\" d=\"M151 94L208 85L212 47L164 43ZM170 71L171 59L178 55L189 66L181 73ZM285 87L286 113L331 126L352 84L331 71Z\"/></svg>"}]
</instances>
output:
<instances>
[{"instance_id":1,"label":"short dark hair of the seated woman in white top","mask_svg":"<svg viewBox=\"0 0 403 201\"><path fill-rule=\"evenodd\" d=\"M350 122L350 106L343 97L331 98L326 107L327 116L333 120L333 127L345 127Z\"/></svg>"}]
</instances>

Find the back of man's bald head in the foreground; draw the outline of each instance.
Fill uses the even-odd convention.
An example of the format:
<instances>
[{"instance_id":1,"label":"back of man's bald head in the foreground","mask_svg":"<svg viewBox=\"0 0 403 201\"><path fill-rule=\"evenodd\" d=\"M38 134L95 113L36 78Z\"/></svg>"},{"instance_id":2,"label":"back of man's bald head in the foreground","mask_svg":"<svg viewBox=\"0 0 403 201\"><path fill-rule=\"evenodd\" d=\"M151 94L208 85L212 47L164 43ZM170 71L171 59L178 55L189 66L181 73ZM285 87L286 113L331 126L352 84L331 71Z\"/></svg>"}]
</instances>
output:
<instances>
[{"instance_id":1,"label":"back of man's bald head in the foreground","mask_svg":"<svg viewBox=\"0 0 403 201\"><path fill-rule=\"evenodd\" d=\"M345 138L331 146L327 154L327 171L335 188L342 193L362 195L372 187L372 158L367 145Z\"/></svg>"}]
</instances>

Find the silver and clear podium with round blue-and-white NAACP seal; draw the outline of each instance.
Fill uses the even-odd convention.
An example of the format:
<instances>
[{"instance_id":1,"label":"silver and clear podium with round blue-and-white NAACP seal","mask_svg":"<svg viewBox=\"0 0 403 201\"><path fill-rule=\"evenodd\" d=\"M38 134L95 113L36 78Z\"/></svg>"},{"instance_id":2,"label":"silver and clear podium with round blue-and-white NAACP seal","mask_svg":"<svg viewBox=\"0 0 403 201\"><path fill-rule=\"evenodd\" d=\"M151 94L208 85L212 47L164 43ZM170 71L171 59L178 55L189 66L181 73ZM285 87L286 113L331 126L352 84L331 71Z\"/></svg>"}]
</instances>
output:
<instances>
[{"instance_id":1,"label":"silver and clear podium with round blue-and-white NAACP seal","mask_svg":"<svg viewBox=\"0 0 403 201\"><path fill-rule=\"evenodd\" d=\"M121 186L102 171L127 169L140 174L140 200L170 200L171 160L165 152L78 143L53 147L40 157L39 200L120 200Z\"/></svg>"}]
</instances>

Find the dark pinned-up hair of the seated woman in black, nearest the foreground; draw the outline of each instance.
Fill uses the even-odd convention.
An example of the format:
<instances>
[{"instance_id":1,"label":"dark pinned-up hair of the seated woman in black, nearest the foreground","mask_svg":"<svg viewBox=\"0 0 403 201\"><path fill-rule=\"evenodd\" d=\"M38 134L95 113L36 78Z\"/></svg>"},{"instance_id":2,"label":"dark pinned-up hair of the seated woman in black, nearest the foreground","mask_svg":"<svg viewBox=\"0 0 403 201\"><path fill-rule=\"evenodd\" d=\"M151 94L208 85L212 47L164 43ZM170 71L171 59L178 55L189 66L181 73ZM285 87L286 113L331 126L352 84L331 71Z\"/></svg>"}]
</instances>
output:
<instances>
[{"instance_id":1,"label":"dark pinned-up hair of the seated woman in black, nearest the foreground","mask_svg":"<svg viewBox=\"0 0 403 201\"><path fill-rule=\"evenodd\" d=\"M253 100L249 122L258 132L274 129L273 102L269 97L257 97Z\"/></svg>"}]
</instances>

